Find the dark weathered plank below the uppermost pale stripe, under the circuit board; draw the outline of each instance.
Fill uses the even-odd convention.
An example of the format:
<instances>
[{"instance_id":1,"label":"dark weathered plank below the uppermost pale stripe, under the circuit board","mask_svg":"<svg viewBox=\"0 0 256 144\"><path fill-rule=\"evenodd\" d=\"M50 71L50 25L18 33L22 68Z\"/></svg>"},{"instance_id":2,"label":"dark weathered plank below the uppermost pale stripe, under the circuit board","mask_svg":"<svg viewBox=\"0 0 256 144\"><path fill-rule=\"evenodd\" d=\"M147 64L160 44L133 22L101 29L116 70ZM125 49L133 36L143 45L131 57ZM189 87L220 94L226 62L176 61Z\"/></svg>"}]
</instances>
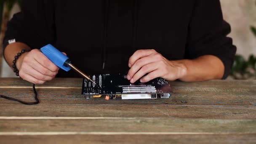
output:
<instances>
[{"instance_id":1,"label":"dark weathered plank below the uppermost pale stripe, under the circuit board","mask_svg":"<svg viewBox=\"0 0 256 144\"><path fill-rule=\"evenodd\" d=\"M256 88L255 88L256 90ZM202 92L175 89L170 99L109 100L85 99L81 89L37 89L41 104L196 104L196 105L254 105L256 93L238 92ZM32 88L0 88L0 93L24 101L34 101ZM0 99L0 104L18 104L14 101Z\"/></svg>"}]
</instances>

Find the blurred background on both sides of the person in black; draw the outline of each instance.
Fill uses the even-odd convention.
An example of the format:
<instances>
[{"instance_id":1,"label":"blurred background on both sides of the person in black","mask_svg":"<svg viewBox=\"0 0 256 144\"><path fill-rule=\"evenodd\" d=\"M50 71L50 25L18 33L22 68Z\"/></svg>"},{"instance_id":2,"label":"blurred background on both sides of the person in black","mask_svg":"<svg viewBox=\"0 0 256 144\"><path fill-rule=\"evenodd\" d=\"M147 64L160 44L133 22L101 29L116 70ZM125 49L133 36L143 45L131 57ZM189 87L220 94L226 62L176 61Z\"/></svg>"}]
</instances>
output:
<instances>
[{"instance_id":1,"label":"blurred background on both sides of the person in black","mask_svg":"<svg viewBox=\"0 0 256 144\"><path fill-rule=\"evenodd\" d=\"M256 0L220 0L224 19L231 24L237 55L228 79L256 79ZM6 24L20 11L20 0L0 0L0 77L16 77L3 59Z\"/></svg>"}]
</instances>

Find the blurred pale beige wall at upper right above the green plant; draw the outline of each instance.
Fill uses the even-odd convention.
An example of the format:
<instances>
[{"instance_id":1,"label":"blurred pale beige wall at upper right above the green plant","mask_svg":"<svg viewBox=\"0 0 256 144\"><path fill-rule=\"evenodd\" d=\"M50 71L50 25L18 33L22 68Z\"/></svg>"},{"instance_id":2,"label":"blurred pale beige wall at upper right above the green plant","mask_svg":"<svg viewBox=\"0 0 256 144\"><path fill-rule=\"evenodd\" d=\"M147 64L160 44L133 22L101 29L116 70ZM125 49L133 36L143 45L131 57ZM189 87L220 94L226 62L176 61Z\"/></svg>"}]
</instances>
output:
<instances>
[{"instance_id":1,"label":"blurred pale beige wall at upper right above the green plant","mask_svg":"<svg viewBox=\"0 0 256 144\"><path fill-rule=\"evenodd\" d=\"M250 31L250 26L256 27L255 0L221 0L223 16L231 24L230 37L237 46L237 53L247 59L253 53L256 55L256 37Z\"/></svg>"}]
</instances>

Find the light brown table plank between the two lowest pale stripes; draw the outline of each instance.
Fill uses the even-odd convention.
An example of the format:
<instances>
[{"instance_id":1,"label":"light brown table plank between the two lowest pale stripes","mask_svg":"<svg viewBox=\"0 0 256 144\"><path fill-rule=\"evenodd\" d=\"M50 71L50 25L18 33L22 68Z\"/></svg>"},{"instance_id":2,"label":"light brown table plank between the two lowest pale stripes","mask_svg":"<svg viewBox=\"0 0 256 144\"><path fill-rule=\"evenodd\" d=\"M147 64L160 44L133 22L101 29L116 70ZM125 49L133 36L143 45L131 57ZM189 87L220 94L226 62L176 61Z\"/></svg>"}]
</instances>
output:
<instances>
[{"instance_id":1,"label":"light brown table plank between the two lowest pale stripes","mask_svg":"<svg viewBox=\"0 0 256 144\"><path fill-rule=\"evenodd\" d=\"M5 132L58 132L60 134L63 132L171 132L181 134L246 134L256 133L256 119L0 119L0 132L0 135L3 135Z\"/></svg>"}]
</instances>

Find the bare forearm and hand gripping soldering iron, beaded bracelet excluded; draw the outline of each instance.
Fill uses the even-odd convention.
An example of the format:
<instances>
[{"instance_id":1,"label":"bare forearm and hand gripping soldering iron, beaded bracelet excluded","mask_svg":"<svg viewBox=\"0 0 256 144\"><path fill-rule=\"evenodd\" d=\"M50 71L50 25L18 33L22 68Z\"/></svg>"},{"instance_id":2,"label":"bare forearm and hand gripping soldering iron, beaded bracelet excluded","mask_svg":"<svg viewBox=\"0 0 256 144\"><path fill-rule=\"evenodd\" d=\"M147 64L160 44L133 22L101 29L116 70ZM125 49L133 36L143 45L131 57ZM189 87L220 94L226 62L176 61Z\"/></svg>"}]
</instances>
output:
<instances>
[{"instance_id":1,"label":"bare forearm and hand gripping soldering iron, beaded bracelet excluded","mask_svg":"<svg viewBox=\"0 0 256 144\"><path fill-rule=\"evenodd\" d=\"M30 50L24 43L12 43L5 48L5 59L12 67L13 59L21 50ZM16 61L19 76L34 84L43 84L52 80L58 73L59 67L51 62L40 50L33 49L23 53Z\"/></svg>"}]
</instances>

